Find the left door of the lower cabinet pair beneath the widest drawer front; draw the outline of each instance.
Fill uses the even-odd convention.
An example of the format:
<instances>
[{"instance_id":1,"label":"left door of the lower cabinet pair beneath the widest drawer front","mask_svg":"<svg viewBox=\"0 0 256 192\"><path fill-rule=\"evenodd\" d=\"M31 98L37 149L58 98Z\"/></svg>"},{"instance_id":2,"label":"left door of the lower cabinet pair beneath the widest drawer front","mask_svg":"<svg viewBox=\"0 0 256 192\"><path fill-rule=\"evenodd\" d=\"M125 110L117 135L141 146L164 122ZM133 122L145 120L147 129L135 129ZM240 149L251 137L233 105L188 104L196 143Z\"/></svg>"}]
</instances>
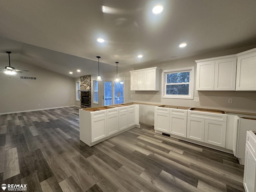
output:
<instances>
[{"instance_id":1,"label":"left door of the lower cabinet pair beneath the widest drawer front","mask_svg":"<svg viewBox=\"0 0 256 192\"><path fill-rule=\"evenodd\" d=\"M187 138L204 142L205 120L188 117Z\"/></svg>"}]
</instances>

